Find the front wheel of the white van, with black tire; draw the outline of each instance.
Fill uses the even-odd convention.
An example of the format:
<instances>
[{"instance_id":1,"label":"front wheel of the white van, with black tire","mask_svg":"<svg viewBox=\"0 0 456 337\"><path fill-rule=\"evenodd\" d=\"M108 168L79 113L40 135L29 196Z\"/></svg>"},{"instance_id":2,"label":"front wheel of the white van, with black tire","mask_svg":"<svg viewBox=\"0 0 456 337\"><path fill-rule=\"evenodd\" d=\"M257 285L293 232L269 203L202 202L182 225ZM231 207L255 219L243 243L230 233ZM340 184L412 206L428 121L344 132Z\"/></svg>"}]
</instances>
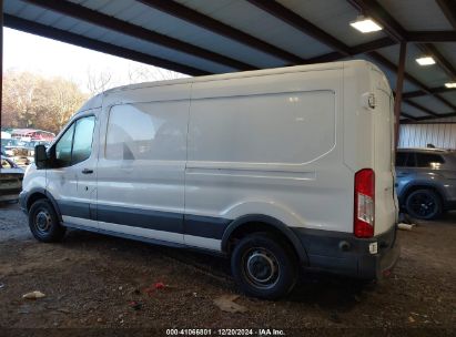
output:
<instances>
[{"instance_id":1,"label":"front wheel of the white van, with black tire","mask_svg":"<svg viewBox=\"0 0 456 337\"><path fill-rule=\"evenodd\" d=\"M51 202L44 198L30 207L29 227L38 241L45 243L60 242L65 234L65 227L60 225Z\"/></svg>"}]
</instances>

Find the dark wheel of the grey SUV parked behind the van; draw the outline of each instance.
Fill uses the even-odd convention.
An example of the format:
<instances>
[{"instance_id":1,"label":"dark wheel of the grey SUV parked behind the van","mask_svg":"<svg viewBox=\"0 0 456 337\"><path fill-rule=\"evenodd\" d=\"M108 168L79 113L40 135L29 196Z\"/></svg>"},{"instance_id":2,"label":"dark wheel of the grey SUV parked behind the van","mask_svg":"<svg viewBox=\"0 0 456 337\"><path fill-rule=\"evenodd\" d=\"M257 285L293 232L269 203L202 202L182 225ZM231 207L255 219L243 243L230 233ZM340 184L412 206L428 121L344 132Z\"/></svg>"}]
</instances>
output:
<instances>
[{"instance_id":1,"label":"dark wheel of the grey SUV parked behind the van","mask_svg":"<svg viewBox=\"0 0 456 337\"><path fill-rule=\"evenodd\" d=\"M414 218L434 219L442 215L442 200L432 190L416 190L407 195L405 210Z\"/></svg>"}]
</instances>

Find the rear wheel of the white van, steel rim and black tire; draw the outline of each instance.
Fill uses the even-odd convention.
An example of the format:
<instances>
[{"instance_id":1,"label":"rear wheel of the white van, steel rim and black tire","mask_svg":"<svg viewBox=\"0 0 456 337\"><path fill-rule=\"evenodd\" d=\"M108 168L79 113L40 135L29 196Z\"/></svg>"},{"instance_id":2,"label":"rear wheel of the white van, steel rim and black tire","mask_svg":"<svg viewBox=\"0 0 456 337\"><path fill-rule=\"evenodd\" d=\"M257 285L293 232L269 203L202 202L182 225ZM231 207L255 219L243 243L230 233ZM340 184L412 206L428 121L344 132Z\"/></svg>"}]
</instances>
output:
<instances>
[{"instance_id":1,"label":"rear wheel of the white van, steel rim and black tire","mask_svg":"<svg viewBox=\"0 0 456 337\"><path fill-rule=\"evenodd\" d=\"M245 236L231 256L231 269L241 290L265 299L288 294L296 284L297 268L292 249L268 233Z\"/></svg>"}]
</instances>

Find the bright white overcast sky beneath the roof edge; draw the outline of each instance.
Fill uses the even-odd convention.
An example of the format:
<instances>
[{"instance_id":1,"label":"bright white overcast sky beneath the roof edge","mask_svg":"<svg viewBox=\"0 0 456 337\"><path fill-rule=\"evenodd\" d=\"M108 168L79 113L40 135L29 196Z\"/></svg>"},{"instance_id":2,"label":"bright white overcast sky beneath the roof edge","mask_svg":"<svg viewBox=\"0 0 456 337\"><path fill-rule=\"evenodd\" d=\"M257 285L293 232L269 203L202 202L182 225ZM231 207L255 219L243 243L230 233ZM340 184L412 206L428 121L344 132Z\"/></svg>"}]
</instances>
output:
<instances>
[{"instance_id":1,"label":"bright white overcast sky beneath the roof edge","mask_svg":"<svg viewBox=\"0 0 456 337\"><path fill-rule=\"evenodd\" d=\"M3 28L3 70L29 71L44 76L62 76L88 91L88 74L109 72L110 86L129 84L129 69L146 69L151 79L163 71L152 65L103 54L60 41ZM172 76L179 76L173 73Z\"/></svg>"}]
</instances>

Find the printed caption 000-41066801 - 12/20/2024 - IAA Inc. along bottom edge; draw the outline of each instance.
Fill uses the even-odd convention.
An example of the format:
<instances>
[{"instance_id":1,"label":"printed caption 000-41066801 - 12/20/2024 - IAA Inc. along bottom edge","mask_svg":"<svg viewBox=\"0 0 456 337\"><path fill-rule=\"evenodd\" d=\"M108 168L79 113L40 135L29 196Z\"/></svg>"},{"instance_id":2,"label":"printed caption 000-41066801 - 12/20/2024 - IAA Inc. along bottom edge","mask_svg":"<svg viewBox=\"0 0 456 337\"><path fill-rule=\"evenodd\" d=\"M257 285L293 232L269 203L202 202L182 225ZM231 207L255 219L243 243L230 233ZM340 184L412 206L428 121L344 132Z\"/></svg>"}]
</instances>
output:
<instances>
[{"instance_id":1,"label":"printed caption 000-41066801 - 12/20/2024 - IAA Inc. along bottom edge","mask_svg":"<svg viewBox=\"0 0 456 337\"><path fill-rule=\"evenodd\" d=\"M283 329L166 329L166 336L286 336Z\"/></svg>"}]
</instances>

